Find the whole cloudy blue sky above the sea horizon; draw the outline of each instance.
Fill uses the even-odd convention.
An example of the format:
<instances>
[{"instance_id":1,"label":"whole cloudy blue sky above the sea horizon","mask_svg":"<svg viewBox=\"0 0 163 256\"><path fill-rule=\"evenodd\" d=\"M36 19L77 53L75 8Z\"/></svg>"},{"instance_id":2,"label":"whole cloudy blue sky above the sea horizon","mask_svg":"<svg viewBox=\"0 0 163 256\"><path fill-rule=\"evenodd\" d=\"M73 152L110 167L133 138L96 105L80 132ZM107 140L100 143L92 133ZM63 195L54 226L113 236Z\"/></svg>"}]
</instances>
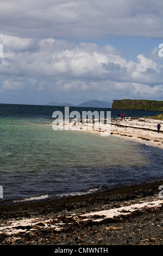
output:
<instances>
[{"instance_id":1,"label":"whole cloudy blue sky above the sea horizon","mask_svg":"<svg viewBox=\"0 0 163 256\"><path fill-rule=\"evenodd\" d=\"M162 100L162 24L162 0L1 0L0 103Z\"/></svg>"}]
</instances>

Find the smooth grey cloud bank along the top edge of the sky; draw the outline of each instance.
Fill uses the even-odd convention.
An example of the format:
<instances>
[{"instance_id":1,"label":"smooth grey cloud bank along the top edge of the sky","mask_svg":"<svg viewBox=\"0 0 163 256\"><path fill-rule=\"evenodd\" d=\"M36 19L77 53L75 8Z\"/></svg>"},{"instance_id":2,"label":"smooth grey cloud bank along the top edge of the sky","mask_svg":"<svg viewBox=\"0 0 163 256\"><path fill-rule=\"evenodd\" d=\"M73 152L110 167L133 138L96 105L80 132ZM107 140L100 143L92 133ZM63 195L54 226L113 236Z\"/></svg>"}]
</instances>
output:
<instances>
[{"instance_id":1,"label":"smooth grey cloud bank along the top edge of the sky","mask_svg":"<svg viewBox=\"0 0 163 256\"><path fill-rule=\"evenodd\" d=\"M162 37L160 0L1 0L0 31L23 38Z\"/></svg>"}]
</instances>

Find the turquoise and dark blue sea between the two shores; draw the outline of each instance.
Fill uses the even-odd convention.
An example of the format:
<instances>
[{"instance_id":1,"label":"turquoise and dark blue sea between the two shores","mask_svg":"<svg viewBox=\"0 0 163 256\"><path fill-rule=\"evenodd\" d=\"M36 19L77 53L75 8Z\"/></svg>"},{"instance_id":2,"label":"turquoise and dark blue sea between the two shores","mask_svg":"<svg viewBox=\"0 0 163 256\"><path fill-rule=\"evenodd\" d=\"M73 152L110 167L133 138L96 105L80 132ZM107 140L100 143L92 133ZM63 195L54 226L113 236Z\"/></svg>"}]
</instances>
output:
<instances>
[{"instance_id":1,"label":"turquoise and dark blue sea between the two shores","mask_svg":"<svg viewBox=\"0 0 163 256\"><path fill-rule=\"evenodd\" d=\"M51 200L163 178L162 149L147 142L52 128L63 106L0 104L0 204ZM121 109L70 107L69 111ZM126 117L155 111L125 110Z\"/></svg>"}]
</instances>

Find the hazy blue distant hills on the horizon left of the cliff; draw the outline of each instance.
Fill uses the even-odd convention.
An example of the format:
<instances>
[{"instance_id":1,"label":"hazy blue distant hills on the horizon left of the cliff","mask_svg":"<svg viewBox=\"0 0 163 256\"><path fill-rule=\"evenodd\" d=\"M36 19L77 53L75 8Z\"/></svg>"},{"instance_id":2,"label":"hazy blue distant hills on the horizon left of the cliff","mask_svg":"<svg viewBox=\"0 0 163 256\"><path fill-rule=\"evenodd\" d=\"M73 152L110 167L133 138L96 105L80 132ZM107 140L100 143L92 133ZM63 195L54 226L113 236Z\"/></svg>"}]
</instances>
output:
<instances>
[{"instance_id":1,"label":"hazy blue distant hills on the horizon left of the cliff","mask_svg":"<svg viewBox=\"0 0 163 256\"><path fill-rule=\"evenodd\" d=\"M71 103L64 102L64 103L58 103L51 101L46 106L64 106L64 107L101 107L101 108L111 108L112 103L107 101L100 101L100 100L90 100L80 103L79 105L72 105Z\"/></svg>"}]
</instances>

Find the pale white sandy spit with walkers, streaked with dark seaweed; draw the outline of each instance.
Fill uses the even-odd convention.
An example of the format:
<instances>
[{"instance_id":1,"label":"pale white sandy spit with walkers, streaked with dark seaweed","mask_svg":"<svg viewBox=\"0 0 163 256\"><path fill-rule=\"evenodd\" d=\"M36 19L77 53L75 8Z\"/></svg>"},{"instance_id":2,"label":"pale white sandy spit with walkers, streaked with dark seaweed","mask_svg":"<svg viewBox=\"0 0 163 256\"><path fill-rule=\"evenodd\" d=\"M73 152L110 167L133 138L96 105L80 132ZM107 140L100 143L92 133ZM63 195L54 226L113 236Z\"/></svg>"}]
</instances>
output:
<instances>
[{"instance_id":1,"label":"pale white sandy spit with walkers, streaked with dark seaweed","mask_svg":"<svg viewBox=\"0 0 163 256\"><path fill-rule=\"evenodd\" d=\"M111 122L109 124L111 125L111 132L109 136L126 138L152 147L163 149L163 131L160 129L160 132L158 133L158 123L161 123L161 121L147 117L127 117L125 120L111 118ZM92 129L92 125L90 125L90 127L87 129L83 129L81 123L78 123L75 126L76 131L90 132L95 134L99 134L101 132L105 133L104 125L101 125L101 128L98 130L94 130L94 128Z\"/></svg>"}]
</instances>

